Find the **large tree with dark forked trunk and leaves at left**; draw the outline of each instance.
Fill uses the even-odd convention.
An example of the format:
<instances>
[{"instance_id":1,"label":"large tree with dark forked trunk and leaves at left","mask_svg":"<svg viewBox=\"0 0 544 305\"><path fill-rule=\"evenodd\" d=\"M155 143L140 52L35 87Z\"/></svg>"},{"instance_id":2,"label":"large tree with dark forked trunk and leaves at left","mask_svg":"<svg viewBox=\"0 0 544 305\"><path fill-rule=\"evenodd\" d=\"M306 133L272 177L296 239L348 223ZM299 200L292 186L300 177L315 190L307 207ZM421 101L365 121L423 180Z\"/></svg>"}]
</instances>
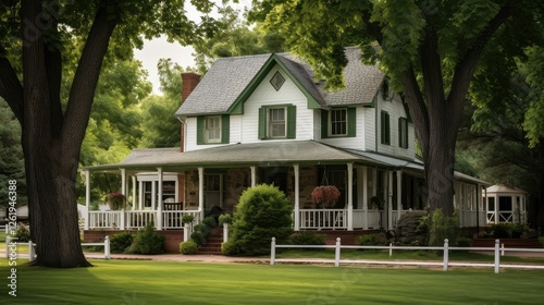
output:
<instances>
[{"instance_id":1,"label":"large tree with dark forked trunk and leaves at left","mask_svg":"<svg viewBox=\"0 0 544 305\"><path fill-rule=\"evenodd\" d=\"M0 3L0 97L22 126L30 230L37 265L88 266L79 241L75 181L79 150L104 57L166 33L191 44L218 24L186 15L186 1L8 0ZM209 13L212 1L190 1ZM84 41L75 71L63 51ZM114 44L110 44L113 41ZM63 77L70 91L61 95ZM62 101L65 101L63 107Z\"/></svg>"}]
</instances>

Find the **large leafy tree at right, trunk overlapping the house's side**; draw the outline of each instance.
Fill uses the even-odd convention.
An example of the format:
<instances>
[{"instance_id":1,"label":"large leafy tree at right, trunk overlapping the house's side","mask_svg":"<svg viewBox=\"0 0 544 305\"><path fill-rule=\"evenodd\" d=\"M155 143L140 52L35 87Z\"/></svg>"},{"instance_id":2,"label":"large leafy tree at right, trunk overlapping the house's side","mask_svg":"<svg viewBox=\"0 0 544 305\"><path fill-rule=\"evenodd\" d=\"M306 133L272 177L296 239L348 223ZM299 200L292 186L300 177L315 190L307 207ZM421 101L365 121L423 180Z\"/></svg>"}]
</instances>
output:
<instances>
[{"instance_id":1,"label":"large leafy tree at right, trunk overlapping the house's side","mask_svg":"<svg viewBox=\"0 0 544 305\"><path fill-rule=\"evenodd\" d=\"M284 33L332 87L342 86L344 47L378 62L409 107L428 203L452 216L456 135L480 59L514 69L499 59L542 45L543 15L544 2L531 0L263 0L250 16Z\"/></svg>"}]
</instances>

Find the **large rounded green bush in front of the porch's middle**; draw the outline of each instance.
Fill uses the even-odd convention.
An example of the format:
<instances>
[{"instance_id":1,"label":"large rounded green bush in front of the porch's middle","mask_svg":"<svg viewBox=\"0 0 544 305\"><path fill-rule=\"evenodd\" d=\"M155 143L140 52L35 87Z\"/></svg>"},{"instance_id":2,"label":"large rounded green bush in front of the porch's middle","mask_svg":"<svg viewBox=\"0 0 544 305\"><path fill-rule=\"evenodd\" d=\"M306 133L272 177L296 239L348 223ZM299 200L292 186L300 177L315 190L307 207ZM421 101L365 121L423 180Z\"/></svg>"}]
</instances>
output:
<instances>
[{"instance_id":1,"label":"large rounded green bush in front of the porch's middle","mask_svg":"<svg viewBox=\"0 0 544 305\"><path fill-rule=\"evenodd\" d=\"M274 185L260 184L244 191L234 215L231 241L242 254L270 253L270 241L284 243L293 232L293 206Z\"/></svg>"}]
</instances>

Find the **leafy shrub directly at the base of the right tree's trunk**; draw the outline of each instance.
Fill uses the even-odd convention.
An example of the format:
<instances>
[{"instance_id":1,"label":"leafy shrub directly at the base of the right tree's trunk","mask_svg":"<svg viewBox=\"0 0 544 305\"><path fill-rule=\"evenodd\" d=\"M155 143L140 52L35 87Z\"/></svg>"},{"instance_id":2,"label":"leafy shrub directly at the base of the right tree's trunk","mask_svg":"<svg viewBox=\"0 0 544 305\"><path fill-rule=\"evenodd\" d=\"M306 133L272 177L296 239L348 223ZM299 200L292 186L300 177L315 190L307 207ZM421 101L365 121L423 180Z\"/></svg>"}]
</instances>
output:
<instances>
[{"instance_id":1,"label":"leafy shrub directly at the base of the right tree's trunk","mask_svg":"<svg viewBox=\"0 0 544 305\"><path fill-rule=\"evenodd\" d=\"M432 213L431 230L429 232L429 245L444 245L444 240L453 242L459 235L459 220L456 216L444 216L442 209L436 209Z\"/></svg>"}]
</instances>

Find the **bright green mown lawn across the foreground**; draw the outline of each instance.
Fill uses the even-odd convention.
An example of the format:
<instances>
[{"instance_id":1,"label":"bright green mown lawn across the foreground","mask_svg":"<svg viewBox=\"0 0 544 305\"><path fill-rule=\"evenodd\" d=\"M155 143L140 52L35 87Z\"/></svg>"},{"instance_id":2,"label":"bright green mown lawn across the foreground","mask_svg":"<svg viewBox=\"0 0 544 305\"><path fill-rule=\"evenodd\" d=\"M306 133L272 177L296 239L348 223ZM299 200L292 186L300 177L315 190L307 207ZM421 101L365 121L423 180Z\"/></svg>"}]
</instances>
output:
<instances>
[{"instance_id":1,"label":"bright green mown lawn across the foreground","mask_svg":"<svg viewBox=\"0 0 544 305\"><path fill-rule=\"evenodd\" d=\"M149 260L92 260L96 267L67 270L17 266L17 297L10 297L7 263L0 259L0 300L9 304L542 304L544 298L544 271Z\"/></svg>"}]
</instances>

